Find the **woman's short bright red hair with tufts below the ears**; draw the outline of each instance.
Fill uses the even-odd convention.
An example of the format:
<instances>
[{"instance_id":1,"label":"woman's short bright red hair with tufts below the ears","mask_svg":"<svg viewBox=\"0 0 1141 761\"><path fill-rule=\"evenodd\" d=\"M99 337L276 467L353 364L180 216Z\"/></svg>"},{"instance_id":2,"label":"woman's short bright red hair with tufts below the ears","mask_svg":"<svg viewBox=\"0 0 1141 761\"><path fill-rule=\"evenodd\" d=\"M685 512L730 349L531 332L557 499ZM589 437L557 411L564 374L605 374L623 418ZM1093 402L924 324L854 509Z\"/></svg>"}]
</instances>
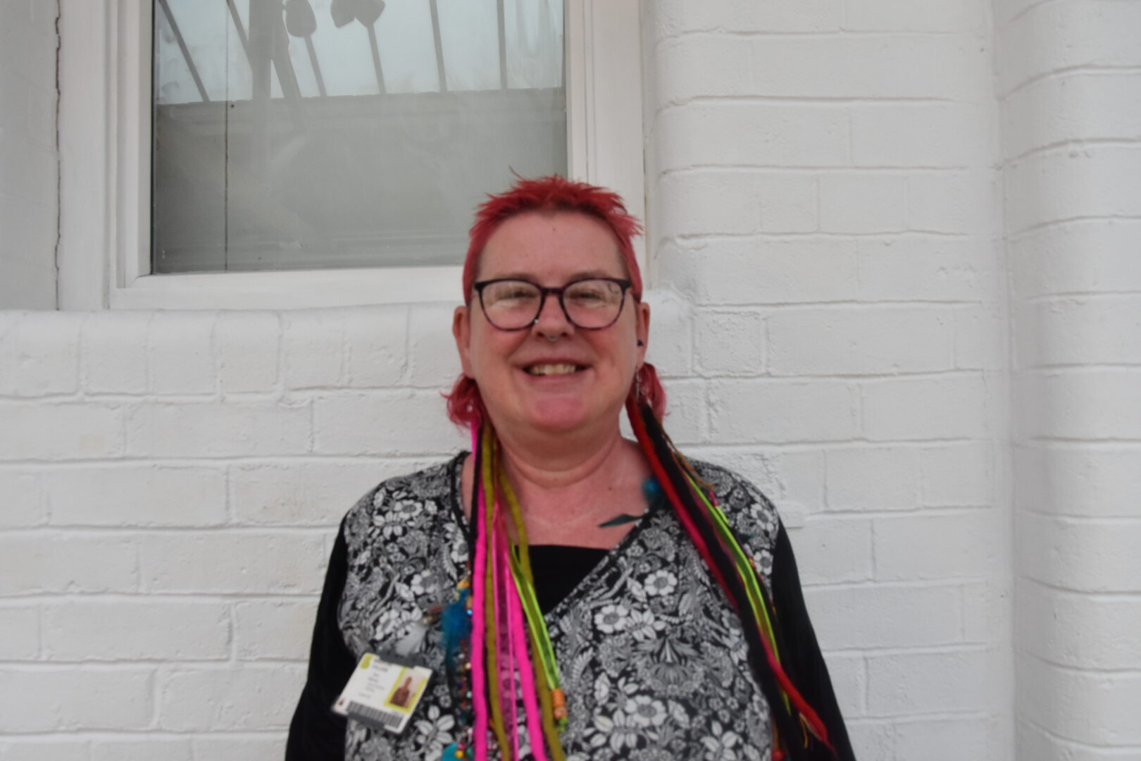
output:
<instances>
[{"instance_id":1,"label":"woman's short bright red hair with tufts below the ears","mask_svg":"<svg viewBox=\"0 0 1141 761\"><path fill-rule=\"evenodd\" d=\"M641 301L642 282L634 258L633 238L641 234L641 224L626 211L622 197L612 191L566 179L557 175L536 179L519 178L507 192L488 195L476 210L476 221L468 232L468 256L463 260L463 302L471 303L472 285L479 269L479 257L487 240L508 219L528 211L569 211L599 219L610 228L626 268L634 301ZM640 394L661 419L665 412L665 389L654 365L638 369L631 395ZM460 375L447 395L447 416L456 426L471 427L487 414L479 387L467 375Z\"/></svg>"}]
</instances>

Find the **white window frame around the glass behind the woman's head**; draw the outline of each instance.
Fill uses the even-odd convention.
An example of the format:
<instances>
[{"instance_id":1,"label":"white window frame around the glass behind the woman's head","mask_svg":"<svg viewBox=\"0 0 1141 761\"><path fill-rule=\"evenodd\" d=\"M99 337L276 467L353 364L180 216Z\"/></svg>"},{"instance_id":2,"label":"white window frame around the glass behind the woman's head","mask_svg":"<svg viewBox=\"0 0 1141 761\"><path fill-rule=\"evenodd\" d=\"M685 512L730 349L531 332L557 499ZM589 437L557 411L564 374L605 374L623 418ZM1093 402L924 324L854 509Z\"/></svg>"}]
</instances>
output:
<instances>
[{"instance_id":1,"label":"white window frame around the glass behind the woman's head","mask_svg":"<svg viewBox=\"0 0 1141 761\"><path fill-rule=\"evenodd\" d=\"M639 0L565 0L568 167L645 218ZM151 274L151 0L60 0L59 307L459 301L460 267ZM645 266L645 243L637 242Z\"/></svg>"}]
</instances>

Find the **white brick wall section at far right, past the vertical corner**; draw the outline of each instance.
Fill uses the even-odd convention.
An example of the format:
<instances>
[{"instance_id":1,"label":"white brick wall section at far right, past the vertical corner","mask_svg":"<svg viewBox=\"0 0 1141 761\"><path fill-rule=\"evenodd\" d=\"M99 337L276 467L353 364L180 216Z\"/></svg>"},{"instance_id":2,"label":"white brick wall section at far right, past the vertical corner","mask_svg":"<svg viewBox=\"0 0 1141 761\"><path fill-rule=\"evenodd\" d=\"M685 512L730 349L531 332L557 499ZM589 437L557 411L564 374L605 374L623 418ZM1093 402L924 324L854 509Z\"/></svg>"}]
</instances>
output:
<instances>
[{"instance_id":1,"label":"white brick wall section at far right, past the vertical corner","mask_svg":"<svg viewBox=\"0 0 1141 761\"><path fill-rule=\"evenodd\" d=\"M1141 6L995 2L1018 758L1141 758Z\"/></svg>"}]
</instances>

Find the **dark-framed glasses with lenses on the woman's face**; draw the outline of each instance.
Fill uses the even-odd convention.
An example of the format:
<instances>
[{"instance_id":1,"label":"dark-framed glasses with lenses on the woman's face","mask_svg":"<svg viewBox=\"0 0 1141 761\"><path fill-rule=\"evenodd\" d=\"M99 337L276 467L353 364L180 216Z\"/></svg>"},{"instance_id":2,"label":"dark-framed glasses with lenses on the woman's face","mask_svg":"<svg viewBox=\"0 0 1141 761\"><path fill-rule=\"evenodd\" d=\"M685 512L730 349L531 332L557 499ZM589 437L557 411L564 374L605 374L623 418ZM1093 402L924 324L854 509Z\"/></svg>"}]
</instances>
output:
<instances>
[{"instance_id":1,"label":"dark-framed glasses with lenses on the woman's face","mask_svg":"<svg viewBox=\"0 0 1141 761\"><path fill-rule=\"evenodd\" d=\"M475 284L479 306L494 327L525 330L539 321L548 294L559 298L567 322L575 327L601 330L618 321L630 281L617 277L583 277L561 288L544 288L516 277Z\"/></svg>"}]
</instances>

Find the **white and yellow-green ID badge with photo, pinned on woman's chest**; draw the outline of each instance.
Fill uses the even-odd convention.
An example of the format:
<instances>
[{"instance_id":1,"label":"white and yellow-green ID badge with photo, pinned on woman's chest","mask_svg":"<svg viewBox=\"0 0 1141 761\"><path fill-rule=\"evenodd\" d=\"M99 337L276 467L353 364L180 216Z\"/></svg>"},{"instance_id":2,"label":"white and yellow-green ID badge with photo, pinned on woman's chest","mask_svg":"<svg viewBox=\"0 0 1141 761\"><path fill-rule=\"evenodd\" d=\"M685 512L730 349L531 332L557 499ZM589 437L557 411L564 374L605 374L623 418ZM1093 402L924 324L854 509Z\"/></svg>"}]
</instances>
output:
<instances>
[{"instance_id":1,"label":"white and yellow-green ID badge with photo, pinned on woman's chest","mask_svg":"<svg viewBox=\"0 0 1141 761\"><path fill-rule=\"evenodd\" d=\"M333 712L399 735L416 710L429 679L430 669L391 663L365 653L333 704Z\"/></svg>"}]
</instances>

